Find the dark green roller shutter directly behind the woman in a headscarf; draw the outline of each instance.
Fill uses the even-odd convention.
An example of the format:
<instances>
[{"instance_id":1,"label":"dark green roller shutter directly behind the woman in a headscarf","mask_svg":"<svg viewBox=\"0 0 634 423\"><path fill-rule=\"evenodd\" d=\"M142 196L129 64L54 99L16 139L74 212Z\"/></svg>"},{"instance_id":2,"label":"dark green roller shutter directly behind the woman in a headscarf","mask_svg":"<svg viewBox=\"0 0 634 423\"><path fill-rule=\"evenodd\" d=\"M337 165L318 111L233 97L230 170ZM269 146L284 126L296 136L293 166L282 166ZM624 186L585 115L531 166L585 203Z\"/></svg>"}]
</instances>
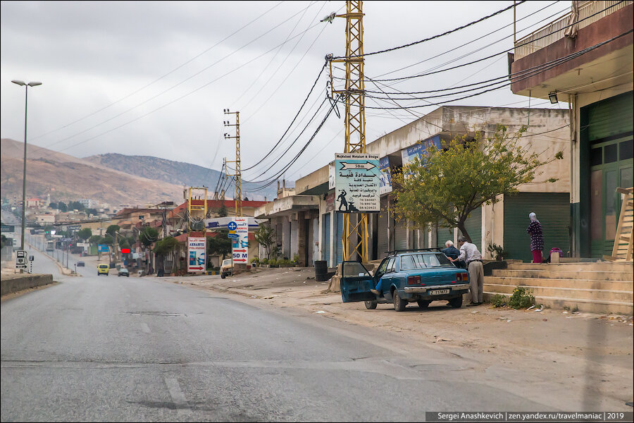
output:
<instances>
[{"instance_id":1,"label":"dark green roller shutter directly behind the woman in a headscarf","mask_svg":"<svg viewBox=\"0 0 634 423\"><path fill-rule=\"evenodd\" d=\"M552 247L559 247L564 254L570 250L568 226L570 204L567 192L520 192L504 197L504 250L508 259L521 259L530 263L530 236L526 228L528 214L537 214L544 233L544 258Z\"/></svg>"}]
</instances>

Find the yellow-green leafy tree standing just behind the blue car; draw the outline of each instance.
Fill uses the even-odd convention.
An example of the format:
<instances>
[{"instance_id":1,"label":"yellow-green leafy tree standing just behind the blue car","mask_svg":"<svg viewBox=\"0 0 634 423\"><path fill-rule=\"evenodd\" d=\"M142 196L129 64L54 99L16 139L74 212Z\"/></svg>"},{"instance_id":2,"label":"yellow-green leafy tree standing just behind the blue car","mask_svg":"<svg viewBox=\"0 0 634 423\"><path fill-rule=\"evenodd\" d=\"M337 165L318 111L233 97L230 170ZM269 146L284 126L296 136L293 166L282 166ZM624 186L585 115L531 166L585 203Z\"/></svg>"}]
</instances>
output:
<instances>
[{"instance_id":1,"label":"yellow-green leafy tree standing just behind the blue car","mask_svg":"<svg viewBox=\"0 0 634 423\"><path fill-rule=\"evenodd\" d=\"M473 210L497 202L499 195L516 194L519 185L541 174L540 166L564 157L558 152L542 160L541 154L523 149L518 141L524 132L526 127L510 134L497 125L490 137L478 132L475 140L456 137L444 151L430 147L426 159L394 173L392 212L418 227L436 222L457 227L471 240L464 223Z\"/></svg>"}]
</instances>

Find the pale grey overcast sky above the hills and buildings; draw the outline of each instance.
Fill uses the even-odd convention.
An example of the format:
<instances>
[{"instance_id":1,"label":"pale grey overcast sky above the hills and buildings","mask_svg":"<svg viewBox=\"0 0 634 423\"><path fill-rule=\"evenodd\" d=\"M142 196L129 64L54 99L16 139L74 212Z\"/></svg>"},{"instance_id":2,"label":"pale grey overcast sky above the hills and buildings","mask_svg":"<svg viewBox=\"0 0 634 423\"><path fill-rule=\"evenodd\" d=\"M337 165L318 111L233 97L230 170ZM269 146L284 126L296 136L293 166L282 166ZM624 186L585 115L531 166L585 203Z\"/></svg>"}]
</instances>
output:
<instances>
[{"instance_id":1,"label":"pale grey overcast sky above the hills and buildings","mask_svg":"<svg viewBox=\"0 0 634 423\"><path fill-rule=\"evenodd\" d=\"M409 44L511 4L364 1L364 49L367 54ZM569 1L517 6L518 37L566 13L569 6ZM220 170L223 157L235 159L235 141L223 139L223 133L234 133L223 126L223 121L235 119L223 114L229 108L240 111L242 168L248 168L280 140L316 80L324 56L345 53L345 20L319 22L332 11L344 13L345 1L2 1L0 7L0 136L24 140L25 88L11 80L40 81L43 85L29 88L27 141L75 157L138 154ZM452 35L368 56L365 73L374 79L416 75L512 45L511 10ZM437 90L506 73L506 54L501 54L454 71L385 83L400 91ZM282 141L279 152L244 171L245 180L273 175L304 147L327 104L289 145L323 102L327 80L324 71L290 130L292 136ZM366 90L375 89L366 85ZM525 107L528 99L504 87L452 104ZM540 99L533 99L535 104L549 106ZM366 99L366 106L378 104ZM413 113L421 116L436 108ZM416 116L403 110L368 109L367 142ZM288 180L311 173L343 151L342 118L331 114L286 172ZM283 152L287 154L280 159ZM269 167L265 165L278 159L271 171L257 178Z\"/></svg>"}]
</instances>

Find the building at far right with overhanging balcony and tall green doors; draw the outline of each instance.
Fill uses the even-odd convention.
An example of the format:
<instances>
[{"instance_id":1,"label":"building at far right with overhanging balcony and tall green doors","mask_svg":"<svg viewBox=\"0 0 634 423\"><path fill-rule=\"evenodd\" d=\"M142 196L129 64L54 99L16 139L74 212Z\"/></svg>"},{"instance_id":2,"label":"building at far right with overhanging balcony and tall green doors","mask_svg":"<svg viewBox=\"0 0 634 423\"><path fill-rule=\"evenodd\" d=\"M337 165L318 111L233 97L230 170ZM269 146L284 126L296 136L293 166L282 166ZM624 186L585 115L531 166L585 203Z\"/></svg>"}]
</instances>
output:
<instances>
[{"instance_id":1,"label":"building at far right with overhanging balcony and tall green doors","mask_svg":"<svg viewBox=\"0 0 634 423\"><path fill-rule=\"evenodd\" d=\"M555 59L514 94L568 102L569 223L576 257L611 255L621 195L633 186L633 2L578 1L573 13L516 42L511 75ZM573 26L567 27L574 23Z\"/></svg>"}]
</instances>

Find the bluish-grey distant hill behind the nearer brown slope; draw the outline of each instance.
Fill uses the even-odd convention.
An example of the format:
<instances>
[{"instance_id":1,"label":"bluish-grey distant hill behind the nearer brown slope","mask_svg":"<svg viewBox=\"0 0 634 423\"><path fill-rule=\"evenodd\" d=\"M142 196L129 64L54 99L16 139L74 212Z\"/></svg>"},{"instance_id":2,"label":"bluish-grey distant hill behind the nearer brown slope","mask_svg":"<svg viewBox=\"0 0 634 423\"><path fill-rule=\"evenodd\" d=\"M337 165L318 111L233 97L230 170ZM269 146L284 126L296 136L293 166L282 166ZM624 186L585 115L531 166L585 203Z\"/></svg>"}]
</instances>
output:
<instances>
[{"instance_id":1,"label":"bluish-grey distant hill behind the nearer brown slope","mask_svg":"<svg viewBox=\"0 0 634 423\"><path fill-rule=\"evenodd\" d=\"M84 160L142 178L162 180L188 187L206 186L210 190L210 196L213 195L213 190L220 177L219 171L210 168L151 156L127 156L110 153L85 157ZM267 200L273 200L277 195L277 185L275 184L262 191L251 191L256 187L257 185L254 183L242 181L242 197L248 197L249 200L264 200L266 196ZM226 197L233 197L234 190L233 183L228 185L228 188L225 188Z\"/></svg>"}]
</instances>

